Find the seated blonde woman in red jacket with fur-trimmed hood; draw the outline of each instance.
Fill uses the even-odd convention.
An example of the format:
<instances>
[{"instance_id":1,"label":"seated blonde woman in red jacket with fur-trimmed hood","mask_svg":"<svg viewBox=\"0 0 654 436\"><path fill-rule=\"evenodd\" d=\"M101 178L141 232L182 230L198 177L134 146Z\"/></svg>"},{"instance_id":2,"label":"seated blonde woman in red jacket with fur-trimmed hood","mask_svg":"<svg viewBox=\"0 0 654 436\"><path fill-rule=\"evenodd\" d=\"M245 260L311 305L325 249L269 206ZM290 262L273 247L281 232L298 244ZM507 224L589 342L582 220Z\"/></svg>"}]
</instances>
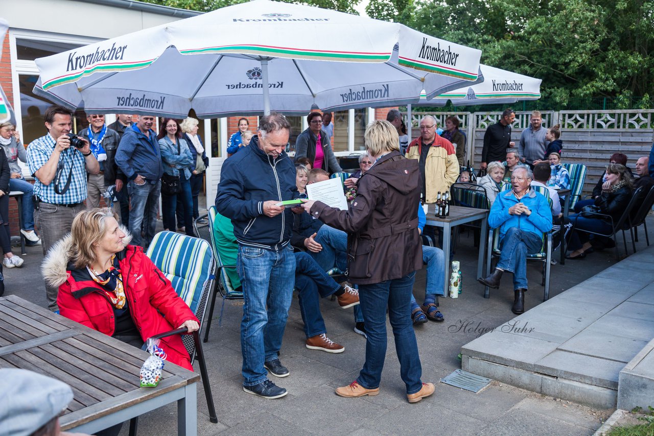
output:
<instances>
[{"instance_id":1,"label":"seated blonde woman in red jacket with fur-trimmed hood","mask_svg":"<svg viewBox=\"0 0 654 436\"><path fill-rule=\"evenodd\" d=\"M61 315L138 347L179 327L198 330L198 318L130 240L111 209L77 214L43 261L46 281L59 287ZM161 341L167 361L193 371L179 335Z\"/></svg>"}]
</instances>

